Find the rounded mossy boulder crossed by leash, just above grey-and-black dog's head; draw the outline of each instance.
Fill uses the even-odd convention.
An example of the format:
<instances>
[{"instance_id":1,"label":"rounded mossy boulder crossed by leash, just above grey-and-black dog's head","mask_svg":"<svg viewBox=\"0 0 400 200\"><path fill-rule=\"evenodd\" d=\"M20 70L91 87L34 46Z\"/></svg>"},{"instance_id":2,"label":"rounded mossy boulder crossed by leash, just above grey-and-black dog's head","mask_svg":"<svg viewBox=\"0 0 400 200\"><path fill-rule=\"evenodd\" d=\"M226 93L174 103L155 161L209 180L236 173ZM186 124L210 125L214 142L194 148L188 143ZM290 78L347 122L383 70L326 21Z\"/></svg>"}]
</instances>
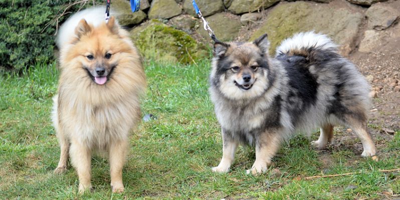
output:
<instances>
[{"instance_id":1,"label":"rounded mossy boulder crossed by leash, just above grey-and-black dog's head","mask_svg":"<svg viewBox=\"0 0 400 200\"><path fill-rule=\"evenodd\" d=\"M233 40L238 36L242 27L240 17L229 12L220 12L206 17L210 27L213 29L217 38L222 41ZM203 24L197 28L197 32L205 38L210 38L209 33L204 30Z\"/></svg>"}]
</instances>

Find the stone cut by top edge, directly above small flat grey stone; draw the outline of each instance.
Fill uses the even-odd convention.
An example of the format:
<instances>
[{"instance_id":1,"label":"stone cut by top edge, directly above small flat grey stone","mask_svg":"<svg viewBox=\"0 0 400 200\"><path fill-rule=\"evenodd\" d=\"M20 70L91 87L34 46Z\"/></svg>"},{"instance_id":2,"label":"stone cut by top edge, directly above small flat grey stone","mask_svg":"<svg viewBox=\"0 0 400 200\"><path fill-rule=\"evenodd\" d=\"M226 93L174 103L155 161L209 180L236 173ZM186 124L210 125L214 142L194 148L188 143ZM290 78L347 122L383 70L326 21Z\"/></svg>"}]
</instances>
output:
<instances>
[{"instance_id":1,"label":"stone cut by top edge, directly above small flat grey stone","mask_svg":"<svg viewBox=\"0 0 400 200\"><path fill-rule=\"evenodd\" d=\"M235 14L242 14L268 8L277 2L279 0L232 0L228 9Z\"/></svg>"}]
</instances>

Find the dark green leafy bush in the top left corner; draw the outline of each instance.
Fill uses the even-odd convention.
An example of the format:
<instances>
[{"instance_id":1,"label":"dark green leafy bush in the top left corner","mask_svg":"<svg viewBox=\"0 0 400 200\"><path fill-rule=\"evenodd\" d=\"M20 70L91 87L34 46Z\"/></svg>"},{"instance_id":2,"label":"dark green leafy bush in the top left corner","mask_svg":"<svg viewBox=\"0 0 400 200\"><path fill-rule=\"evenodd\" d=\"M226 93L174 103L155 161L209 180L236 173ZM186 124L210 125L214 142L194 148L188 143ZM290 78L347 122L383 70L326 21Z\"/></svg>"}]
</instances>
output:
<instances>
[{"instance_id":1,"label":"dark green leafy bush in the top left corner","mask_svg":"<svg viewBox=\"0 0 400 200\"><path fill-rule=\"evenodd\" d=\"M72 0L0 0L0 70L21 69L54 60L56 20ZM59 24L68 14L59 18Z\"/></svg>"}]
</instances>

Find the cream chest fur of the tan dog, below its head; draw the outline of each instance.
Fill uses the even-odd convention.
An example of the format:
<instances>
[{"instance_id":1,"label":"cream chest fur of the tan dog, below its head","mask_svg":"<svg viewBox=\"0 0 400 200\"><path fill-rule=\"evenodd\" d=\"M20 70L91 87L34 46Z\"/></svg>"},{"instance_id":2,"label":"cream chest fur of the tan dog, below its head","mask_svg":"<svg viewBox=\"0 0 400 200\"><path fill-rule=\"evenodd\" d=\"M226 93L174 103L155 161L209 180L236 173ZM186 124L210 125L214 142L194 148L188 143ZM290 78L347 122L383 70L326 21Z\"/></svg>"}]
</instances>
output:
<instances>
[{"instance_id":1,"label":"cream chest fur of the tan dog, below its head","mask_svg":"<svg viewBox=\"0 0 400 200\"><path fill-rule=\"evenodd\" d=\"M136 99L135 99L136 98ZM53 121L70 139L95 149L106 149L109 141L127 140L128 133L140 118L137 96L131 101L91 104L66 100L68 96L54 99Z\"/></svg>"}]
</instances>

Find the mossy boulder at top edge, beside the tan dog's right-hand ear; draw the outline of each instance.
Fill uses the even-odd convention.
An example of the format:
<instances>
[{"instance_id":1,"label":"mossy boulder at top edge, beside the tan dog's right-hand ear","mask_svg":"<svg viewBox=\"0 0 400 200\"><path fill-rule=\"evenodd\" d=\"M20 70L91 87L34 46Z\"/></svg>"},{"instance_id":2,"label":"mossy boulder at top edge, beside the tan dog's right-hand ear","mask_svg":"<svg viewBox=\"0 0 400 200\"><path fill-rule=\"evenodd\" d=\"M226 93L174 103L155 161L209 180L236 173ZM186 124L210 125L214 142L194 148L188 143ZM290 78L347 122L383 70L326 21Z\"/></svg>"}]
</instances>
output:
<instances>
[{"instance_id":1,"label":"mossy boulder at top edge, beside the tan dog's right-hand ear","mask_svg":"<svg viewBox=\"0 0 400 200\"><path fill-rule=\"evenodd\" d=\"M130 3L127 0L113 0L112 8L116 10L118 22L123 26L139 24L147 17L142 10L132 12Z\"/></svg>"}]
</instances>

